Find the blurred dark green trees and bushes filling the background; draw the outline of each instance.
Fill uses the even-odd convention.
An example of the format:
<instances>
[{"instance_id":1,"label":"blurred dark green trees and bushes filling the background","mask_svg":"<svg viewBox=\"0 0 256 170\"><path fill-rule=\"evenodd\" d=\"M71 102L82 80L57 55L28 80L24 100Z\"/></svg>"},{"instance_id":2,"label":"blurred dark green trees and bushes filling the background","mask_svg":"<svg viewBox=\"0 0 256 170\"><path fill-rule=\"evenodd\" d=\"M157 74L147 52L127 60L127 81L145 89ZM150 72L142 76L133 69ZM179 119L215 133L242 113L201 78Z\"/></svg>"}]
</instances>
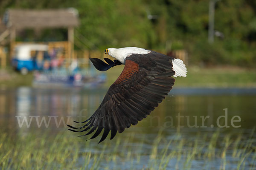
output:
<instances>
[{"instance_id":1,"label":"blurred dark green trees and bushes filling the background","mask_svg":"<svg viewBox=\"0 0 256 170\"><path fill-rule=\"evenodd\" d=\"M79 11L77 49L139 46L157 51L185 49L190 65L239 65L255 67L255 0L221 0L215 5L215 30L223 34L209 44L208 0L1 0L6 8L68 8ZM153 15L151 19L148 19ZM49 40L23 31L17 39ZM60 34L61 33L61 34ZM51 40L63 40L64 30L50 33Z\"/></svg>"}]
</instances>

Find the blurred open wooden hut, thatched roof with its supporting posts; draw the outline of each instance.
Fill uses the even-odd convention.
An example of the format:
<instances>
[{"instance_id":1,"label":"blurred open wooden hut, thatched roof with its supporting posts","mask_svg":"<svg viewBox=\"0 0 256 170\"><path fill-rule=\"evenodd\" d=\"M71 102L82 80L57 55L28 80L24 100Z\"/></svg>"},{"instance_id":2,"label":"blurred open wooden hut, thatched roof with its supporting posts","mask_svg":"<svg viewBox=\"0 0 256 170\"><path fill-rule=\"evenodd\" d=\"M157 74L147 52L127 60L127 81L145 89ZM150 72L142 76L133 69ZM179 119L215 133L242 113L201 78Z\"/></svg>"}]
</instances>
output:
<instances>
[{"instance_id":1,"label":"blurred open wooden hut, thatched roof with its supporting posts","mask_svg":"<svg viewBox=\"0 0 256 170\"><path fill-rule=\"evenodd\" d=\"M0 42L5 37L10 37L10 52L15 47L16 33L23 29L40 30L44 28L67 28L67 57L74 55L74 27L79 25L78 11L75 8L67 9L8 9L3 16L5 31L0 31ZM0 27L1 28L1 27ZM64 47L65 48L65 47Z\"/></svg>"}]
</instances>

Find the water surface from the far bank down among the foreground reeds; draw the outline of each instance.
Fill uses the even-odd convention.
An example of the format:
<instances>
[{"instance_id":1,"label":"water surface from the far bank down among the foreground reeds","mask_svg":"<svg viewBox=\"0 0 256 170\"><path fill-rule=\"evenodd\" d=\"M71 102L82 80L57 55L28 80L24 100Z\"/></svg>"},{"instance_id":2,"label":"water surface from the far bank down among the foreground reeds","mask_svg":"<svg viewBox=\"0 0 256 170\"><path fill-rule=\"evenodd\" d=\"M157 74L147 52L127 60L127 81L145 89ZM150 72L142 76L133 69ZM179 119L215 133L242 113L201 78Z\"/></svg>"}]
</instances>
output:
<instances>
[{"instance_id":1,"label":"water surface from the far bank down among the foreground reeds","mask_svg":"<svg viewBox=\"0 0 256 170\"><path fill-rule=\"evenodd\" d=\"M90 91L26 87L1 90L0 126L14 136L24 136L30 133L38 135L47 133L49 136L54 136L58 132L64 132L76 140L77 134L68 131L65 124L76 125L72 122L73 120L87 119L98 108L105 92L106 89ZM235 138L237 134L242 134L240 142L247 142L251 136L252 147L255 147L256 134L252 133L256 122L255 114L255 89L251 91L250 89L210 89L208 91L207 89L174 89L146 119L126 129L123 133L117 134L116 138L119 138L122 144L126 142L122 150L115 151L119 163L101 161L99 166L108 165L109 169L142 169L151 162L160 161L157 156L152 157L152 148L159 134L161 134L161 140L157 142L158 150L166 146L164 143L172 140L176 140L176 143L184 141L183 146L189 150L189 147L193 147L189 145L189 142L194 142L198 134L206 136L206 139L198 141L199 146L200 144L208 145L207 141L210 142L212 135L216 132L219 132L218 140L220 141L215 146L216 153L218 150L219 152L223 150L225 146L223 141L227 135ZM24 119L27 119L27 124ZM46 120L46 124L42 119ZM29 124L30 121L31 124ZM105 153L113 152L117 142L116 138L112 140L111 146L104 150ZM84 137L84 139L88 138ZM100 153L103 144L96 144L99 139L100 137L92 139L90 148L81 146L81 152L90 150L93 153ZM109 136L106 140L109 140ZM141 143L142 140L143 143ZM168 152L177 148L177 145L172 145L172 143L175 142L170 142ZM131 160L127 161L125 158L133 153L140 154L141 157L140 161L134 161L131 168ZM232 153L232 149L227 149L227 163L224 165L226 169L237 168L240 158L235 158ZM187 157L186 150L183 154L184 158ZM245 168L250 169L253 164L255 165L255 156L255 152L248 154L243 161ZM76 165L79 167L83 163L81 157ZM178 159L177 156L177 159L170 159L166 168L177 169L177 166L179 167L180 164L182 167L183 163L182 159ZM220 169L221 164L221 159L218 157L211 161L207 160L207 162L204 159L195 159L190 168L195 170L198 167Z\"/></svg>"}]
</instances>

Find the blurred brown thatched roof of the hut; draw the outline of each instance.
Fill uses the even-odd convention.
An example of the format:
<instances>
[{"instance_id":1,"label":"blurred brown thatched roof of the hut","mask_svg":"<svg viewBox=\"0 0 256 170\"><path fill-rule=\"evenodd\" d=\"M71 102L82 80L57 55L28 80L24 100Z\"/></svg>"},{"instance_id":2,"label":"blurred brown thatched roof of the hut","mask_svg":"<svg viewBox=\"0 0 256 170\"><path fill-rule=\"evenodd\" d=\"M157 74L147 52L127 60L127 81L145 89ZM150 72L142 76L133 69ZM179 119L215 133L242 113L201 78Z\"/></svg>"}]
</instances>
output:
<instances>
[{"instance_id":1,"label":"blurred brown thatched roof of the hut","mask_svg":"<svg viewBox=\"0 0 256 170\"><path fill-rule=\"evenodd\" d=\"M7 27L23 28L68 28L78 26L75 8L52 10L9 9L3 17Z\"/></svg>"}]
</instances>

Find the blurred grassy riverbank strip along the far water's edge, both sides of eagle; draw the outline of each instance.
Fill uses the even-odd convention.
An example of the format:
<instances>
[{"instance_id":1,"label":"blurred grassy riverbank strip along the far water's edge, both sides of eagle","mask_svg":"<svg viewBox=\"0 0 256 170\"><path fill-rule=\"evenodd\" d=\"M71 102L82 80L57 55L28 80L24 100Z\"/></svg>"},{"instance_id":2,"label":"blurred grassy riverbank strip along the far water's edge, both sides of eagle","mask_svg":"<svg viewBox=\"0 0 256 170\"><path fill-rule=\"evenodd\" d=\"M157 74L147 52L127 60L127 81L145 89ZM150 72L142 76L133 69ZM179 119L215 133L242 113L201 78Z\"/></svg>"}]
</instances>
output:
<instances>
[{"instance_id":1,"label":"blurred grassy riverbank strip along the far water's edge, both sides of eagle","mask_svg":"<svg viewBox=\"0 0 256 170\"><path fill-rule=\"evenodd\" d=\"M106 71L108 88L121 74L124 66L116 66ZM33 74L26 76L13 71L11 68L0 70L0 88L15 88L19 86L32 86ZM235 67L188 68L187 77L177 77L176 87L201 87L201 88L255 88L256 69Z\"/></svg>"}]
</instances>

